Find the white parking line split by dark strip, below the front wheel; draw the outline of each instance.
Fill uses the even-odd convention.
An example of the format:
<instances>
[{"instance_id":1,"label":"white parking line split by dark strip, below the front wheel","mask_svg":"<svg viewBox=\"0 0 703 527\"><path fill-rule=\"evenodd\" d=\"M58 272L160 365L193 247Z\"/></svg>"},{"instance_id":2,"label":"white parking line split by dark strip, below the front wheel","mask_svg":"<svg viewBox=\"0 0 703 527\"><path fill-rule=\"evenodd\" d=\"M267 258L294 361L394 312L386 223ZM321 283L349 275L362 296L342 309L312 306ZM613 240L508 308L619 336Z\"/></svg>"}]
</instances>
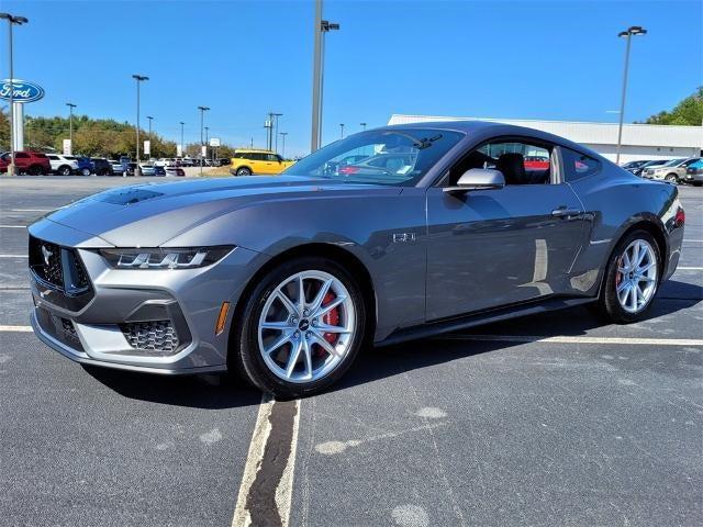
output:
<instances>
[{"instance_id":1,"label":"white parking line split by dark strip, below the front wheel","mask_svg":"<svg viewBox=\"0 0 703 527\"><path fill-rule=\"evenodd\" d=\"M249 442L232 527L288 527L299 422L299 400L277 402L264 394Z\"/></svg>"}]
</instances>

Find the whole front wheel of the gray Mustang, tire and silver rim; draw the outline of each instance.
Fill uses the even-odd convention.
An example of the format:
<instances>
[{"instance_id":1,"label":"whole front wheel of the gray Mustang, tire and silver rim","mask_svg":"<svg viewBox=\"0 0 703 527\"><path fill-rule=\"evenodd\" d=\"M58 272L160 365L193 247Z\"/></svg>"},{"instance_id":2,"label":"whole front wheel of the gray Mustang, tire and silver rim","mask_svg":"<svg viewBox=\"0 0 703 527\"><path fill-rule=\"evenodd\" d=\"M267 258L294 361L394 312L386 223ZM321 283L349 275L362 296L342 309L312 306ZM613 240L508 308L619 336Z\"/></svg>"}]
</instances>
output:
<instances>
[{"instance_id":1,"label":"whole front wheel of the gray Mustang, tire and silver rim","mask_svg":"<svg viewBox=\"0 0 703 527\"><path fill-rule=\"evenodd\" d=\"M235 324L228 367L265 392L294 397L348 370L365 340L366 309L343 267L306 257L270 271Z\"/></svg>"}]
</instances>

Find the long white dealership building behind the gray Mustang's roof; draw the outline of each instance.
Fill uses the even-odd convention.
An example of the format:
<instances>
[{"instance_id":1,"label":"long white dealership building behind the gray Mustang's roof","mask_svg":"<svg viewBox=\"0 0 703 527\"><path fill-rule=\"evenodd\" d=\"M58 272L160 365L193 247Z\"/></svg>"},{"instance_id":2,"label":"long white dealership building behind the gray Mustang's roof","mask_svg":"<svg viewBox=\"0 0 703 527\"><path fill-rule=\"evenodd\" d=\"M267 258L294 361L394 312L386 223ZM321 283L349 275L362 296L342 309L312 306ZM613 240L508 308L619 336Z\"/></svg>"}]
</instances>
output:
<instances>
[{"instance_id":1,"label":"long white dealership building behind the gray Mustang's roof","mask_svg":"<svg viewBox=\"0 0 703 527\"><path fill-rule=\"evenodd\" d=\"M603 157L615 160L617 123L580 123L570 121L533 121L525 119L442 117L436 115L393 114L388 124L431 121L489 121L542 130L588 146ZM621 162L636 159L670 159L703 155L703 126L624 124Z\"/></svg>"}]
</instances>

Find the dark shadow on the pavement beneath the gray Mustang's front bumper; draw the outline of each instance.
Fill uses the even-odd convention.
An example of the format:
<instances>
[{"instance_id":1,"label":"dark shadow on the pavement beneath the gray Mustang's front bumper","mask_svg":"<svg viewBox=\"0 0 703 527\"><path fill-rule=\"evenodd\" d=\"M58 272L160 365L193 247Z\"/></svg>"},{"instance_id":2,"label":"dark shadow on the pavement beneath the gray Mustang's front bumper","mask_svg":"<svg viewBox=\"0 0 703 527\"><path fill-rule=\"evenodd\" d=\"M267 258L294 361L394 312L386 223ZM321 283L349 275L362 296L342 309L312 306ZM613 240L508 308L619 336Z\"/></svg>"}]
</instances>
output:
<instances>
[{"instance_id":1,"label":"dark shadow on the pavement beneath the gray Mustang's front bumper","mask_svg":"<svg viewBox=\"0 0 703 527\"><path fill-rule=\"evenodd\" d=\"M224 374L155 375L83 366L97 381L120 395L150 403L224 410L255 406L261 392Z\"/></svg>"}]
</instances>

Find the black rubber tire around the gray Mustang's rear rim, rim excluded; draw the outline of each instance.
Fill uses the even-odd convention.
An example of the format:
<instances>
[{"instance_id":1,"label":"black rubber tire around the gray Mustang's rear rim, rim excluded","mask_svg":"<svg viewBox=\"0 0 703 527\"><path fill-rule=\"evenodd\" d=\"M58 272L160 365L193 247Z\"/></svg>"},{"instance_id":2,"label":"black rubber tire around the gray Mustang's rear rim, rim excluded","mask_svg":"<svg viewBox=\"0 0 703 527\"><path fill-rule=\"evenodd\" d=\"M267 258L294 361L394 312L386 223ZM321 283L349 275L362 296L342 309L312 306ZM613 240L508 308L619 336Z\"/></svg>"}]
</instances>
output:
<instances>
[{"instance_id":1,"label":"black rubber tire around the gray Mustang's rear rim, rim excluded","mask_svg":"<svg viewBox=\"0 0 703 527\"><path fill-rule=\"evenodd\" d=\"M616 280L617 280L617 266L621 255L625 251L625 249L635 242L636 239L644 239L655 249L657 257L657 282L656 289L647 304L641 307L637 313L631 313L625 311L623 306L620 304L617 300L616 293ZM637 322L643 319L647 312L651 309L651 304L657 295L659 290L659 284L661 283L661 272L662 272L662 258L661 258L661 247L655 239L655 237L649 234L647 231L633 231L627 233L617 244L615 250L611 255L611 258L607 262L607 267L605 269L605 277L603 279L603 284L601 287L601 293L598 299L598 309L600 313L611 322L615 324L631 324L633 322Z\"/></svg>"}]
</instances>

